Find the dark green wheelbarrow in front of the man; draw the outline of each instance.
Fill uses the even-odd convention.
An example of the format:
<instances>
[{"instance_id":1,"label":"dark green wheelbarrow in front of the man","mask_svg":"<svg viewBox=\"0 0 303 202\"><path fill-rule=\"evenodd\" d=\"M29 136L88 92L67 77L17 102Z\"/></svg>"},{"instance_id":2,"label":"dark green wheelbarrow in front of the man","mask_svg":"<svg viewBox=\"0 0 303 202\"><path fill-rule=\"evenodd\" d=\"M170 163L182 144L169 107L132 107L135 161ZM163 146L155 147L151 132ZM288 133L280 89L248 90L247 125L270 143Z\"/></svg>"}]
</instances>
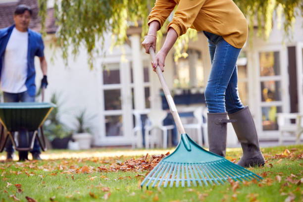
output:
<instances>
[{"instance_id":1,"label":"dark green wheelbarrow in front of the man","mask_svg":"<svg viewBox=\"0 0 303 202\"><path fill-rule=\"evenodd\" d=\"M46 151L46 138L42 124L53 107L55 104L47 102L0 103L0 122L4 127L0 135L0 152L3 152L8 138L19 152L19 160L28 159L28 151L33 150L36 138L42 151ZM25 133L16 135L18 131Z\"/></svg>"}]
</instances>

